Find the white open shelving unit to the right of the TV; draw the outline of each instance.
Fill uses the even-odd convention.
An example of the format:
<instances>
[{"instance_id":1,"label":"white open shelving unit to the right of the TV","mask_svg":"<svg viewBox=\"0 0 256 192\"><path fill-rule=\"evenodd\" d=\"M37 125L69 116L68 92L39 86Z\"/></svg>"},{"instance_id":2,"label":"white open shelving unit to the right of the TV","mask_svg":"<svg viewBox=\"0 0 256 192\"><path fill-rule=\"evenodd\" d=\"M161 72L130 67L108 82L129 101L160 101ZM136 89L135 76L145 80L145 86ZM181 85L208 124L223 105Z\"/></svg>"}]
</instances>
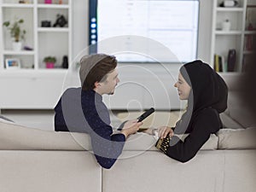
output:
<instances>
[{"instance_id":1,"label":"white open shelving unit to the right of the TV","mask_svg":"<svg viewBox=\"0 0 256 192\"><path fill-rule=\"evenodd\" d=\"M211 66L214 66L215 54L224 56L226 64L229 50L236 49L235 72L241 72L244 70L245 56L255 53L254 50L245 49L245 41L248 35L256 35L256 31L247 31L247 6L256 5L256 0L238 0L238 6L233 8L219 7L222 2L213 0ZM222 30L224 20L230 20L230 31Z\"/></svg>"}]
</instances>

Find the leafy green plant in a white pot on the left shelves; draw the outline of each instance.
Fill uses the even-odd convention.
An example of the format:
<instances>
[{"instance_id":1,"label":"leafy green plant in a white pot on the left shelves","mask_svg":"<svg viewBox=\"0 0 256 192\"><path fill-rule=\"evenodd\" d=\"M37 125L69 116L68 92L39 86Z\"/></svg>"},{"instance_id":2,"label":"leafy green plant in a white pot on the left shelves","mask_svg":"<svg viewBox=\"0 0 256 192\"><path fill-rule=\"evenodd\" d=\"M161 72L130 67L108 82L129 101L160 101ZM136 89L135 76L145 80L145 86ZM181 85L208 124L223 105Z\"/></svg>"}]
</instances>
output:
<instances>
[{"instance_id":1,"label":"leafy green plant in a white pot on the left shelves","mask_svg":"<svg viewBox=\"0 0 256 192\"><path fill-rule=\"evenodd\" d=\"M25 38L26 30L21 30L20 25L24 23L24 20L15 20L14 23L11 24L10 21L3 22L3 26L6 26L9 29L10 35L13 38L13 49L20 50L21 49L21 41Z\"/></svg>"}]
</instances>

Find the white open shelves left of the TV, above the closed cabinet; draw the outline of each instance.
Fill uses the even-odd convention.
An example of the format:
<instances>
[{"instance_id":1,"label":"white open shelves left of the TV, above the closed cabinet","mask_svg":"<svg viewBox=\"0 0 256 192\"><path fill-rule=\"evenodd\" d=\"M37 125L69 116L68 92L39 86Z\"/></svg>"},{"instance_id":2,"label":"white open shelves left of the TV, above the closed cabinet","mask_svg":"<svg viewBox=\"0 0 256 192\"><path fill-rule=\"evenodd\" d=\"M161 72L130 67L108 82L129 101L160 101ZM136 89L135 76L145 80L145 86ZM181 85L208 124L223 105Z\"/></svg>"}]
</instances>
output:
<instances>
[{"instance_id":1,"label":"white open shelves left of the TV, above the closed cabinet","mask_svg":"<svg viewBox=\"0 0 256 192\"><path fill-rule=\"evenodd\" d=\"M44 3L44 0L1 0L0 2L0 35L1 53L0 69L6 70L6 60L18 59L20 68L27 70L45 69L44 57L56 58L55 68L48 70L65 71L62 68L63 56L67 55L68 63L72 61L72 0L52 0L52 3ZM57 15L63 15L63 25L54 27ZM26 30L25 41L22 49L15 51L12 48L12 38L9 31L3 26L4 21L23 19L22 29ZM42 27L42 21L50 21L49 27ZM32 50L24 49L24 46ZM22 73L20 71L20 73Z\"/></svg>"}]
</instances>

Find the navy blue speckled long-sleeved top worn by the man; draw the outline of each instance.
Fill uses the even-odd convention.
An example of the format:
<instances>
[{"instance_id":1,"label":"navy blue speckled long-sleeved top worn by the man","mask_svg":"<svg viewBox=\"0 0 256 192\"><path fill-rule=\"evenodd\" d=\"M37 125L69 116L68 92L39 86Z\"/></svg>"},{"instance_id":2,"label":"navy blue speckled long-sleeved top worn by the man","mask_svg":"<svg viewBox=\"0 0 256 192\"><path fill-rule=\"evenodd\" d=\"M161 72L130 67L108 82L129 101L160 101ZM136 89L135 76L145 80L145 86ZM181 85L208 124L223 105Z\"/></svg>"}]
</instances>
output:
<instances>
[{"instance_id":1,"label":"navy blue speckled long-sleeved top worn by the man","mask_svg":"<svg viewBox=\"0 0 256 192\"><path fill-rule=\"evenodd\" d=\"M90 134L97 162L111 168L125 144L124 134L113 134L108 108L94 90L67 89L55 107L55 131Z\"/></svg>"}]
</instances>

